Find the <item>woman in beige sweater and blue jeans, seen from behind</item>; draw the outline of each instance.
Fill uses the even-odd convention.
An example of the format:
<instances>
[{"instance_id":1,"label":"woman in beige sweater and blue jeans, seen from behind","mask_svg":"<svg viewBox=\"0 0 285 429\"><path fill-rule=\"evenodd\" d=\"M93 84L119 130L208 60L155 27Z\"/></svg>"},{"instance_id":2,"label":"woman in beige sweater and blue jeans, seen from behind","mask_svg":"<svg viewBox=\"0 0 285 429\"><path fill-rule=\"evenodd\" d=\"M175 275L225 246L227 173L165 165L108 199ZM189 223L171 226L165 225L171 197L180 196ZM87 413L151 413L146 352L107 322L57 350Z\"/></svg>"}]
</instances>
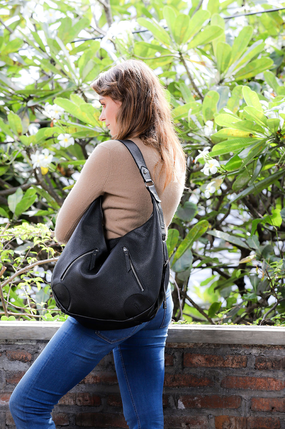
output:
<instances>
[{"instance_id":1,"label":"woman in beige sweater and blue jeans, seen from behind","mask_svg":"<svg viewBox=\"0 0 285 429\"><path fill-rule=\"evenodd\" d=\"M131 153L118 139L132 140L143 154L161 199L167 238L184 190L186 159L163 86L143 61L135 59L116 64L90 86L99 94L99 119L112 138L98 144L86 160L59 210L56 239L68 242L99 195L107 243L151 216L149 192ZM166 303L150 322L113 331L86 328L69 316L12 393L9 407L17 429L54 429L53 406L111 350L129 428L162 429L164 347L173 311L170 283Z\"/></svg>"}]
</instances>

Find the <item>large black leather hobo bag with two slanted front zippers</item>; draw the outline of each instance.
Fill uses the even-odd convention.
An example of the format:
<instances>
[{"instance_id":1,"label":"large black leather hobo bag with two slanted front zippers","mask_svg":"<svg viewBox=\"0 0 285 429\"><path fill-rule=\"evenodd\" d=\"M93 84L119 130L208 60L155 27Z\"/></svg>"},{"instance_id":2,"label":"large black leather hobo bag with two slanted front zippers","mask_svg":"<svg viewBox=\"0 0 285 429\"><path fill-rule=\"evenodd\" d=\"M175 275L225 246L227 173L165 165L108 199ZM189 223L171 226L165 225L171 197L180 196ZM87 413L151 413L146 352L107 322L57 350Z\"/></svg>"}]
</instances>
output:
<instances>
[{"instance_id":1,"label":"large black leather hobo bag with two slanted front zippers","mask_svg":"<svg viewBox=\"0 0 285 429\"><path fill-rule=\"evenodd\" d=\"M151 216L124 236L106 240L98 196L83 213L51 277L58 308L91 329L140 325L153 319L162 303L166 308L170 269L161 200L140 149L132 140L120 142L134 157L151 195Z\"/></svg>"}]
</instances>

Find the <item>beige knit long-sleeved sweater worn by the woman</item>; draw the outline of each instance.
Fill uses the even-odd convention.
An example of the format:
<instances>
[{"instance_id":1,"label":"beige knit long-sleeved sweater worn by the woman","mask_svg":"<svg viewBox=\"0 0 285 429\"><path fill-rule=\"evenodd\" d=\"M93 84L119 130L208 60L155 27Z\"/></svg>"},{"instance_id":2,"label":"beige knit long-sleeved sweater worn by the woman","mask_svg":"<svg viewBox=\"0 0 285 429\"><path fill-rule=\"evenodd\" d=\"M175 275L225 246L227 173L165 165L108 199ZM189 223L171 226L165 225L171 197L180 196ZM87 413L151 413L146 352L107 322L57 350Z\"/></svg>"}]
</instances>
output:
<instances>
[{"instance_id":1,"label":"beige knit long-sleeved sweater worn by the woman","mask_svg":"<svg viewBox=\"0 0 285 429\"><path fill-rule=\"evenodd\" d=\"M139 138L131 139L140 149L145 164L161 199L161 208L167 229L180 202L185 183L181 172L179 182L170 182L163 190L165 171L160 173L162 161L156 149ZM154 166L156 167L154 176ZM175 162L176 164L176 162ZM177 161L177 165L178 161ZM102 211L106 239L125 235L144 224L153 206L151 196L131 153L119 140L99 143L81 169L74 187L65 198L56 217L55 237L66 244L89 204L102 195Z\"/></svg>"}]
</instances>

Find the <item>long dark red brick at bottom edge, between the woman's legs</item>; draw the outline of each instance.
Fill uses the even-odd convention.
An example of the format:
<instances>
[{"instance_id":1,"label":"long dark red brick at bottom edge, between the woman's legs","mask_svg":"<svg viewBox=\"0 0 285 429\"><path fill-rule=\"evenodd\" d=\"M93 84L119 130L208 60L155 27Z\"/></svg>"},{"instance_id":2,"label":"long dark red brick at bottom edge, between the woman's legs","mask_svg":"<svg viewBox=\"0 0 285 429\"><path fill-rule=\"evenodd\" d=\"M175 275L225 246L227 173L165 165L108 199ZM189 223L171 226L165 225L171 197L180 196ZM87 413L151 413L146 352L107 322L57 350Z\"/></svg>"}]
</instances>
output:
<instances>
[{"instance_id":1,"label":"long dark red brick at bottom edge, between the woman's legs","mask_svg":"<svg viewBox=\"0 0 285 429\"><path fill-rule=\"evenodd\" d=\"M78 413L75 424L84 427L128 428L123 414Z\"/></svg>"}]
</instances>

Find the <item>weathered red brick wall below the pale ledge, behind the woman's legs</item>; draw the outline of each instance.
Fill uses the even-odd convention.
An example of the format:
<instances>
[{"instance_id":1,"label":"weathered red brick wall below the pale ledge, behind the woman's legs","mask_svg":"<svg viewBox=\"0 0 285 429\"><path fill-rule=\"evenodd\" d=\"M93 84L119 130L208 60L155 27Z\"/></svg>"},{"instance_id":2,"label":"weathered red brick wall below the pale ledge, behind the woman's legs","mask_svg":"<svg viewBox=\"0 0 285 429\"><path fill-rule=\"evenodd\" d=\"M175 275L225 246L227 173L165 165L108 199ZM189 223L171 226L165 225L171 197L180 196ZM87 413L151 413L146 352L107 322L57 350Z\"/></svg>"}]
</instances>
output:
<instances>
[{"instance_id":1,"label":"weathered red brick wall below the pale ledge, behind the woman's legs","mask_svg":"<svg viewBox=\"0 0 285 429\"><path fill-rule=\"evenodd\" d=\"M0 339L1 429L15 428L9 397L47 341ZM284 369L285 345L167 342L164 428L285 429ZM128 428L112 353L52 416L57 428Z\"/></svg>"}]
</instances>

